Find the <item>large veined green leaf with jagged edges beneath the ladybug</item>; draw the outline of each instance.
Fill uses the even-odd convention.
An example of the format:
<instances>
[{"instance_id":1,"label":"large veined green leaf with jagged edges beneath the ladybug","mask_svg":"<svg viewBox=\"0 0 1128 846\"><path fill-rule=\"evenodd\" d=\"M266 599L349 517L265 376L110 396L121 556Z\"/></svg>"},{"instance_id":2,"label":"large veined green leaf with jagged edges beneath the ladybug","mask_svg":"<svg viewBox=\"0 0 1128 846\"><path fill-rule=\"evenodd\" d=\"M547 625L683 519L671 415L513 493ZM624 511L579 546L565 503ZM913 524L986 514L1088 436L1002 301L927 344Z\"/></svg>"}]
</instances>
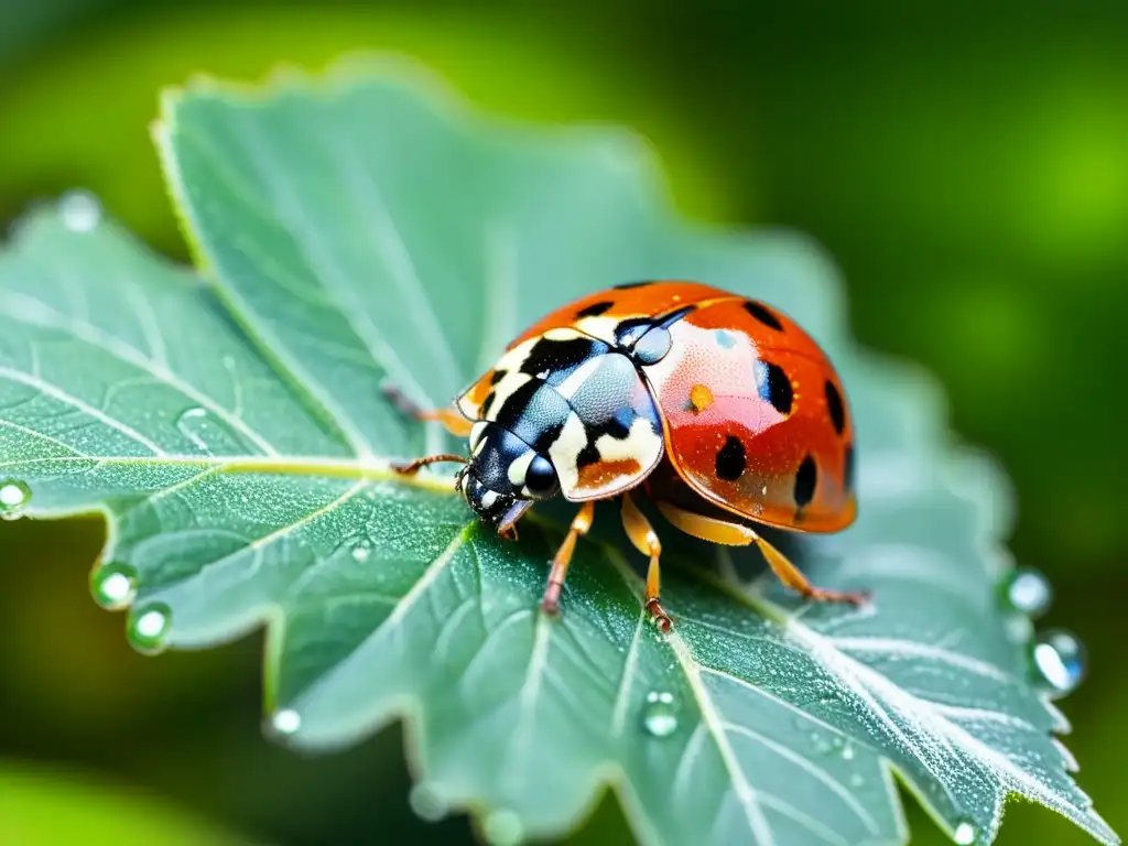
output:
<instances>
[{"instance_id":1,"label":"large veined green leaf with jagged edges beneath the ladybug","mask_svg":"<svg viewBox=\"0 0 1128 846\"><path fill-rule=\"evenodd\" d=\"M76 227L76 197L0 257L0 493L107 513L96 596L131 605L139 647L268 623L273 732L331 748L404 716L420 812L470 808L496 843L564 831L602 783L647 844L902 843L893 774L961 841L993 839L1011 794L1118 841L997 600L1002 477L952 444L927 380L851 343L811 244L691 226L634 136L501 124L388 63L196 82L159 142L210 284ZM874 605L802 605L738 575L748 550L668 530L662 636L601 508L548 619L566 510L505 543L449 477L389 473L457 444L384 379L442 405L553 307L661 276L766 299L836 361L861 518L790 548Z\"/></svg>"}]
</instances>

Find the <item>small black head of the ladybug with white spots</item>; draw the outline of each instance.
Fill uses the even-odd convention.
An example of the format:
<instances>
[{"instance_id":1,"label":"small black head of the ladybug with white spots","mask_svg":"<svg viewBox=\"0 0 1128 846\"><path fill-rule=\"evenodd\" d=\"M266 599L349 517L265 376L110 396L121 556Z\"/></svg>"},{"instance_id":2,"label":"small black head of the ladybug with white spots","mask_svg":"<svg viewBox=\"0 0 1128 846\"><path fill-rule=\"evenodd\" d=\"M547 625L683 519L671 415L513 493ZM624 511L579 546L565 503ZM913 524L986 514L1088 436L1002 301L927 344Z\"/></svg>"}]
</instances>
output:
<instances>
[{"instance_id":1,"label":"small black head of the ladybug with white spots","mask_svg":"<svg viewBox=\"0 0 1128 846\"><path fill-rule=\"evenodd\" d=\"M508 429L481 422L470 434L470 461L458 474L458 490L483 522L509 529L535 500L559 490L550 461Z\"/></svg>"}]
</instances>

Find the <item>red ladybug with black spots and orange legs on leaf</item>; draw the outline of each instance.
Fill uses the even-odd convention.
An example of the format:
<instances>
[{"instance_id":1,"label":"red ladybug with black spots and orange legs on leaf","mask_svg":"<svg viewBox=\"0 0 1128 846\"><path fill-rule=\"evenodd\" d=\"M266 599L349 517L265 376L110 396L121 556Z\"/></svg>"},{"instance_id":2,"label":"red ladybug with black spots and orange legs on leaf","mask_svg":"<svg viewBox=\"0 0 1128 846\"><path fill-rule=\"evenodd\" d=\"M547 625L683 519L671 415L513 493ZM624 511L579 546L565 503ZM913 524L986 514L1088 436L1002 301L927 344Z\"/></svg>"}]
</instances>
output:
<instances>
[{"instance_id":1,"label":"red ladybug with black spots and orange legs on leaf","mask_svg":"<svg viewBox=\"0 0 1128 846\"><path fill-rule=\"evenodd\" d=\"M792 319L758 300L686 281L631 282L579 299L513 341L452 408L402 408L468 437L468 457L397 465L413 474L459 461L457 490L487 525L515 534L536 502L580 510L552 561L541 606L559 607L594 502L618 497L632 544L650 556L646 610L662 631L661 543L641 492L688 535L756 544L808 599L864 593L812 585L760 537L763 523L831 532L854 521L854 428L830 361Z\"/></svg>"}]
</instances>

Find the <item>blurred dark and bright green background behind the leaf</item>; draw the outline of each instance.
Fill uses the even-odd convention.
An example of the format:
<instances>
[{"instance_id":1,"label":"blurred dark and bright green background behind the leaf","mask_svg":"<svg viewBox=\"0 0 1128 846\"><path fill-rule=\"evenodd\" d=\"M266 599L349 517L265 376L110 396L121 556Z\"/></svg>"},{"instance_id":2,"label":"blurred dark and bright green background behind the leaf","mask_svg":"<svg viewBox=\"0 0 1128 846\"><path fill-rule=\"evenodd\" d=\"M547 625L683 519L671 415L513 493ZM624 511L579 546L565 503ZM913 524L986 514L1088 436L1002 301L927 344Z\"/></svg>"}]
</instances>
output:
<instances>
[{"instance_id":1,"label":"blurred dark and bright green background behind the leaf","mask_svg":"<svg viewBox=\"0 0 1128 846\"><path fill-rule=\"evenodd\" d=\"M830 250L856 334L935 372L1011 474L1011 547L1057 594L1043 624L1089 646L1067 742L1128 831L1128 5L0 0L0 222L80 185L185 257L158 89L356 49L493 111L631 124L686 212ZM133 653L89 599L102 540L97 521L0 526L0 843L469 841L462 818L412 814L398 726L326 757L263 740L261 638ZM572 840L627 837L605 802ZM999 843L1086 839L1014 805Z\"/></svg>"}]
</instances>

